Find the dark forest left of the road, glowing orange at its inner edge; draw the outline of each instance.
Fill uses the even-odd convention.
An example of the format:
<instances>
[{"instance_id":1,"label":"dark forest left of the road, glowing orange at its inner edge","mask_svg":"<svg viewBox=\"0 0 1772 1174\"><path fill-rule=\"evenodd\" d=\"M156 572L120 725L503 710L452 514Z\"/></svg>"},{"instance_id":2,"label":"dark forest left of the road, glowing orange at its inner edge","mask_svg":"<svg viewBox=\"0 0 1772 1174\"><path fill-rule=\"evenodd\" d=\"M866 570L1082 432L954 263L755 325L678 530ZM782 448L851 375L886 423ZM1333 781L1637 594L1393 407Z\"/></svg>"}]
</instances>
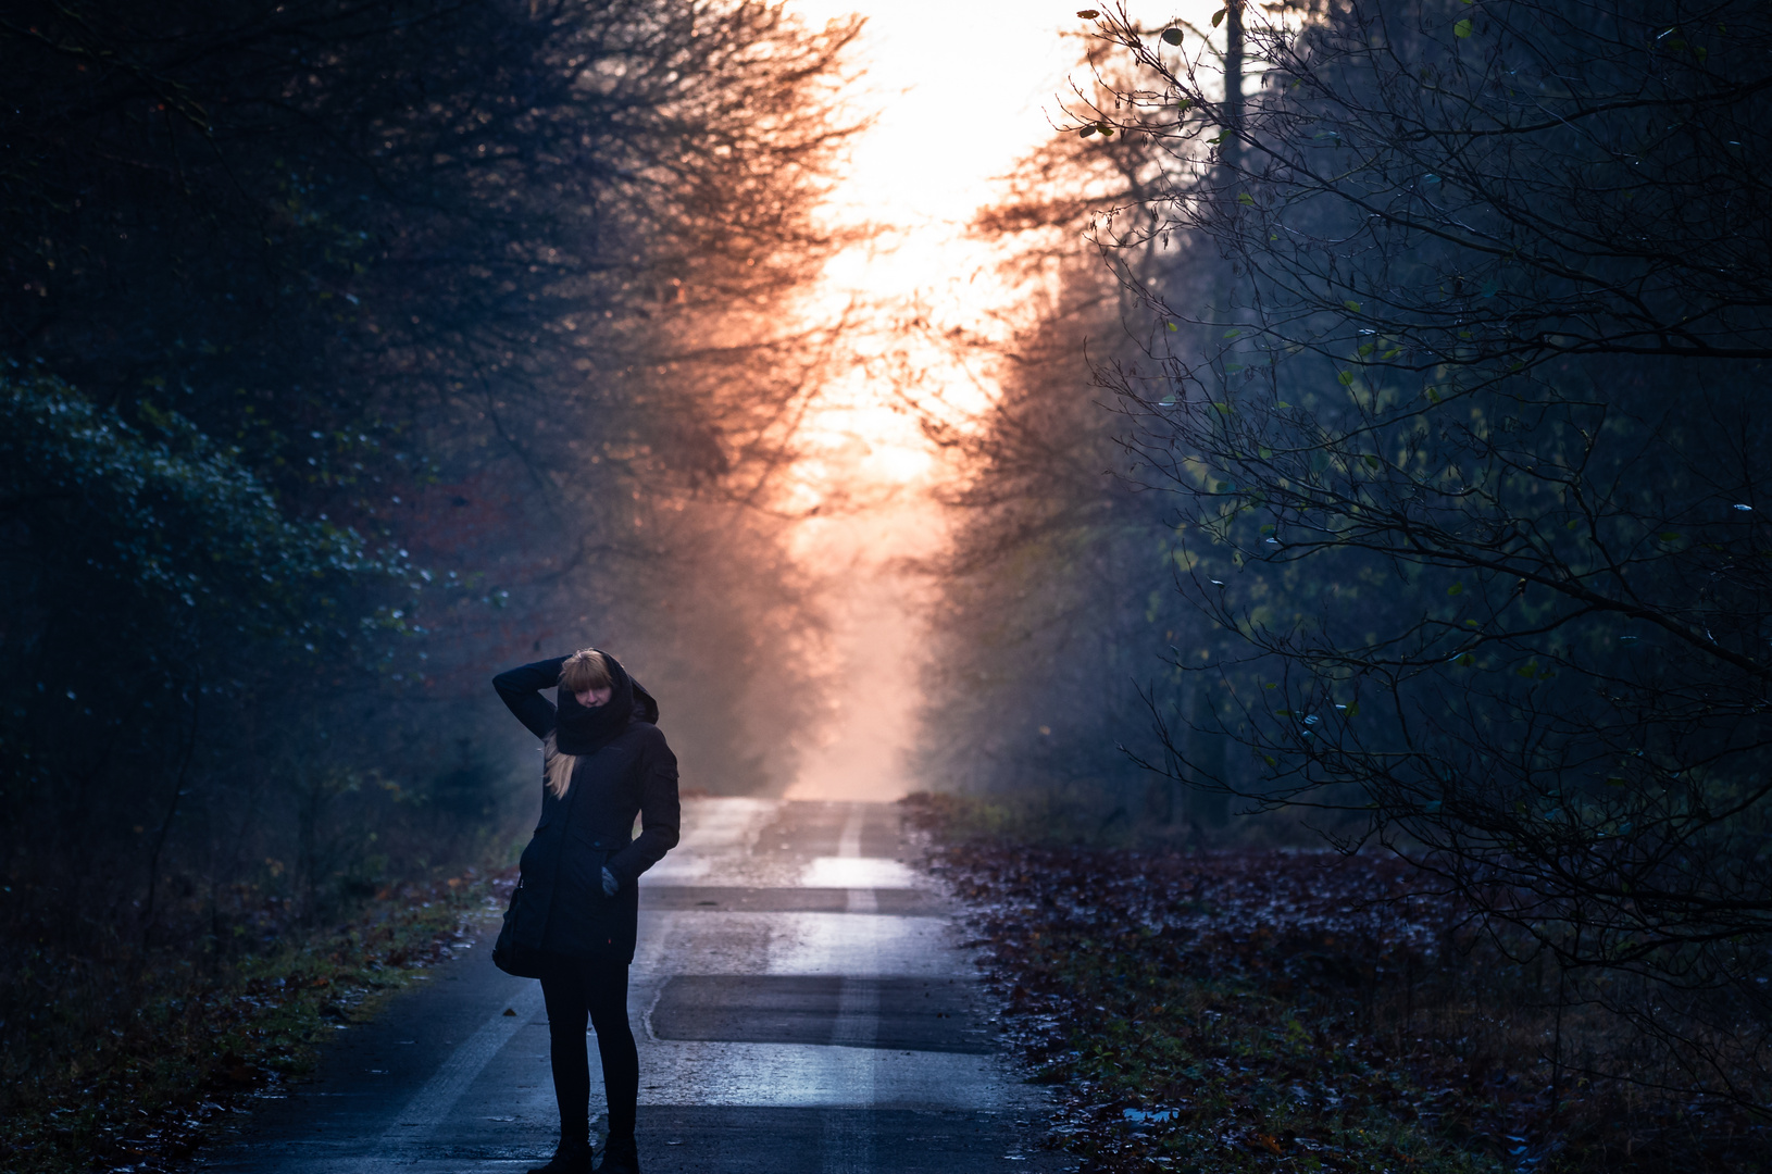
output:
<instances>
[{"instance_id":1,"label":"dark forest left of the road, glowing orange at its inner edge","mask_svg":"<svg viewBox=\"0 0 1772 1174\"><path fill-rule=\"evenodd\" d=\"M643 645L698 786L789 769L806 575L755 505L828 361L780 306L838 243L810 212L852 32L7 11L9 1084L165 995L144 974L507 862L501 664Z\"/></svg>"}]
</instances>

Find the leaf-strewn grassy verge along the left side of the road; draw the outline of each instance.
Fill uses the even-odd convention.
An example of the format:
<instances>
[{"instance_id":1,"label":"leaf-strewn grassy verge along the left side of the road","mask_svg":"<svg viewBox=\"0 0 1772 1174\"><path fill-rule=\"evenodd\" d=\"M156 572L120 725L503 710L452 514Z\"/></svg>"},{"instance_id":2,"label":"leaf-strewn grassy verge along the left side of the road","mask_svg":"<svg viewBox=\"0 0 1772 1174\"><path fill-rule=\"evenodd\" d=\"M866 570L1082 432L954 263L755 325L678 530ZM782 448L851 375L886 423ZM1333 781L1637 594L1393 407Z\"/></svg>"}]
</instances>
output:
<instances>
[{"instance_id":1,"label":"leaf-strewn grassy verge along the left side of the road","mask_svg":"<svg viewBox=\"0 0 1772 1174\"><path fill-rule=\"evenodd\" d=\"M232 963L113 942L110 958L71 970L27 947L14 997L34 1008L35 1050L58 1062L9 1066L5 1169L183 1169L253 1096L307 1073L333 1029L424 981L477 931L494 885L475 875L399 885L321 933L289 924L282 901L248 901L234 912L260 942Z\"/></svg>"}]
</instances>

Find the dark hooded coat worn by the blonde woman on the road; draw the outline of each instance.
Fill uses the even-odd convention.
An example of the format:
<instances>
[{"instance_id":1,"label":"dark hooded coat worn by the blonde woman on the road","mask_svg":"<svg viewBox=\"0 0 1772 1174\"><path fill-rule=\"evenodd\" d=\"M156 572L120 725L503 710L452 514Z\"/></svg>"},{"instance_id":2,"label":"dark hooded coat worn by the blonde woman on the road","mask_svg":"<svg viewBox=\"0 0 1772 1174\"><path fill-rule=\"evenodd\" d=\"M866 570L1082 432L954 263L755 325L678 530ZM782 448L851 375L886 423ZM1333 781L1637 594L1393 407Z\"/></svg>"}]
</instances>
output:
<instances>
[{"instance_id":1,"label":"dark hooded coat worn by the blonde woman on the road","mask_svg":"<svg viewBox=\"0 0 1772 1174\"><path fill-rule=\"evenodd\" d=\"M537 660L493 678L498 696L530 733L555 735L576 754L572 784L555 799L542 781L542 818L523 850L523 898L514 903L517 946L574 958L634 960L640 891L634 882L677 845L677 756L657 728L659 705L610 653L610 701L583 707L569 689L558 708L542 689L560 684L567 657ZM633 838L634 815L641 816ZM615 873L615 896L602 869Z\"/></svg>"}]
</instances>

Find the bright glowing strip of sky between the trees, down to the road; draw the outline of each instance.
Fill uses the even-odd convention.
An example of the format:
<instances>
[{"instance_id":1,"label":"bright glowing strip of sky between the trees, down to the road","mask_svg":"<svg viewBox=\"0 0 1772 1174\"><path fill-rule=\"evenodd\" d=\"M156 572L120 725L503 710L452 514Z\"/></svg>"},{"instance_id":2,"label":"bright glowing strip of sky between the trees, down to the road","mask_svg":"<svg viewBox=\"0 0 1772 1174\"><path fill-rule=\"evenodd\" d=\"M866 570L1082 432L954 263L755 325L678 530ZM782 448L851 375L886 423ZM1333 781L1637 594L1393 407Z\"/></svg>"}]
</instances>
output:
<instances>
[{"instance_id":1,"label":"bright glowing strip of sky between the trees, down to the road","mask_svg":"<svg viewBox=\"0 0 1772 1174\"><path fill-rule=\"evenodd\" d=\"M1198 12L1217 0L1171 2ZM854 55L867 69L858 104L877 117L854 142L826 214L886 232L836 259L812 299L813 313L851 301L879 313L851 342L854 374L829 390L801 437L806 459L790 505L833 506L801 526L797 554L842 584L829 600L838 717L824 744L804 753L787 793L884 800L927 786L904 769L925 701L916 682L927 657L920 604L927 584L893 561L939 549L943 517L927 490L944 473L916 421L895 411L888 368L920 374L923 393L941 390L953 405L983 405L992 393L989 372L969 370L895 322L916 306L937 329L991 333L999 313L1014 312L1017 292L994 274L999 257L968 241L966 225L999 198L996 181L1054 135L1067 78L1083 55L1076 34L1092 23L1077 18L1079 0L789 0L789 7L812 25L849 12L868 21Z\"/></svg>"}]
</instances>

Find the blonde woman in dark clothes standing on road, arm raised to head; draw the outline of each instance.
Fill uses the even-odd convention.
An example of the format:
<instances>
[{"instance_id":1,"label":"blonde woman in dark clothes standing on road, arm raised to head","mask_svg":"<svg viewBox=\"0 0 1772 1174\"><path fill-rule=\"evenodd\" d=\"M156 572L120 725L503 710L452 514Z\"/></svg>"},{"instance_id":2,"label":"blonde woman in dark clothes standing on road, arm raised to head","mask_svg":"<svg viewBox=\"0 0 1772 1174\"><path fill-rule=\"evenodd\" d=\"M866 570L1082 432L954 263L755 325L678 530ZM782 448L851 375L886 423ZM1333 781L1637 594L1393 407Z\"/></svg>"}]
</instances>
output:
<instances>
[{"instance_id":1,"label":"blonde woman in dark clothes standing on road, arm raised to head","mask_svg":"<svg viewBox=\"0 0 1772 1174\"><path fill-rule=\"evenodd\" d=\"M556 685L558 708L540 696ZM542 818L523 850L512 940L533 960L548 1002L560 1147L530 1174L590 1170L587 1016L610 1100L597 1170L638 1174L640 1055L627 1023L634 882L677 845L677 756L654 724L657 701L606 652L525 664L494 676L493 687L542 740ZM631 841L636 813L641 832Z\"/></svg>"}]
</instances>

